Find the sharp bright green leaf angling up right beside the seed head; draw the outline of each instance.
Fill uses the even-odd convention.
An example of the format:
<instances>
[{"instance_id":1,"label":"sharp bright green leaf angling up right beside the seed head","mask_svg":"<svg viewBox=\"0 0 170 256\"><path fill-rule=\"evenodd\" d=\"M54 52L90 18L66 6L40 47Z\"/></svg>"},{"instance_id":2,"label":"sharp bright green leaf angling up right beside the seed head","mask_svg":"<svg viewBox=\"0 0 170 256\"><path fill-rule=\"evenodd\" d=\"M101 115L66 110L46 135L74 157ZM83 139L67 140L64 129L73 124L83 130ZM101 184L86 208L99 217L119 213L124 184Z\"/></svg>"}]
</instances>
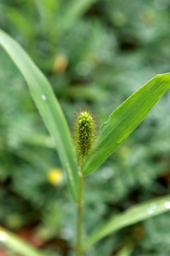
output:
<instances>
[{"instance_id":1,"label":"sharp bright green leaf angling up right beside the seed head","mask_svg":"<svg viewBox=\"0 0 170 256\"><path fill-rule=\"evenodd\" d=\"M84 176L95 171L142 122L170 87L170 74L157 75L128 97L101 126L96 149L84 161Z\"/></svg>"}]
</instances>

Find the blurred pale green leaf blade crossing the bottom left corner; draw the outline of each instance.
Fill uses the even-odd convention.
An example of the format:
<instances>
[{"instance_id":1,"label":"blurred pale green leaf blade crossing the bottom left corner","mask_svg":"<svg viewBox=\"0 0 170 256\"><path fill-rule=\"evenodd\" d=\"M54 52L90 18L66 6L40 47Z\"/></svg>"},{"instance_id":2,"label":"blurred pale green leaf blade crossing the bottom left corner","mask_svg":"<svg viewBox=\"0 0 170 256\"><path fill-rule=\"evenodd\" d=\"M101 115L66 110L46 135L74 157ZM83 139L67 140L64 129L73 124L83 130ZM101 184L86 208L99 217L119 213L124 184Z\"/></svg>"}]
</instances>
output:
<instances>
[{"instance_id":1,"label":"blurred pale green leaf blade crossing the bottom left corner","mask_svg":"<svg viewBox=\"0 0 170 256\"><path fill-rule=\"evenodd\" d=\"M18 236L9 232L8 230L1 228L0 226L0 243L6 245L13 252L23 256L45 256L45 253L40 252L35 247L31 246ZM47 256L47 255L46 255Z\"/></svg>"}]
</instances>

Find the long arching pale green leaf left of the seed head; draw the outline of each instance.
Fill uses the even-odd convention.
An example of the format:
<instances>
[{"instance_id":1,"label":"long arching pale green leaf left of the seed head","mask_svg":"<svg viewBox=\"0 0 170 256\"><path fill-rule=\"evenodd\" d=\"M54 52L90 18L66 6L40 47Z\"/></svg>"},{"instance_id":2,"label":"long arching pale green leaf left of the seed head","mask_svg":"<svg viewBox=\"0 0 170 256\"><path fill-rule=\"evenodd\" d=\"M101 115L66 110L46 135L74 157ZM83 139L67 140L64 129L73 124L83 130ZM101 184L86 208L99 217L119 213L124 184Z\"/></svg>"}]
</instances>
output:
<instances>
[{"instance_id":1,"label":"long arching pale green leaf left of the seed head","mask_svg":"<svg viewBox=\"0 0 170 256\"><path fill-rule=\"evenodd\" d=\"M27 53L4 31L0 30L0 43L17 65L28 83L30 93L45 125L55 141L62 166L67 174L69 190L74 201L78 196L78 171L69 127L52 88L45 76Z\"/></svg>"}]
</instances>

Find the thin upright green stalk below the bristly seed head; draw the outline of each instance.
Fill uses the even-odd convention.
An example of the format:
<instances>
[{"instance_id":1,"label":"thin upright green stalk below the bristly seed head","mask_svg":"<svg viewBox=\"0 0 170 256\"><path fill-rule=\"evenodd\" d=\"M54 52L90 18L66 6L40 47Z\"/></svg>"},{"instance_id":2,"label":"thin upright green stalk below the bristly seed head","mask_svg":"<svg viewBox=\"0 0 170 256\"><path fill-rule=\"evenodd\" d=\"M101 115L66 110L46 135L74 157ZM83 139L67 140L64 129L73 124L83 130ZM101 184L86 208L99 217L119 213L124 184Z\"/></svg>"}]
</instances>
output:
<instances>
[{"instance_id":1,"label":"thin upright green stalk below the bristly seed head","mask_svg":"<svg viewBox=\"0 0 170 256\"><path fill-rule=\"evenodd\" d=\"M83 255L83 251L81 249L83 207L84 207L84 177L82 175L82 169L80 166L80 169L79 169L79 202L77 204L77 244L76 244L77 256Z\"/></svg>"}]
</instances>

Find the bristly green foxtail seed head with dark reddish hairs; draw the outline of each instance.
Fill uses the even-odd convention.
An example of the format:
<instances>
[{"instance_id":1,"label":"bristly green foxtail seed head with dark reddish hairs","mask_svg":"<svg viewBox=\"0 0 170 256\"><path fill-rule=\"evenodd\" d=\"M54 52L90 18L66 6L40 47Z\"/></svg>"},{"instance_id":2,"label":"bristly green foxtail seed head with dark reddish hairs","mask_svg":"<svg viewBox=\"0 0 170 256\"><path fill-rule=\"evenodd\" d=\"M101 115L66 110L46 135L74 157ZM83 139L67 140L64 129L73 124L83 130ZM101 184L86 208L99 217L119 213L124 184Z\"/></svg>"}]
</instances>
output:
<instances>
[{"instance_id":1,"label":"bristly green foxtail seed head with dark reddish hairs","mask_svg":"<svg viewBox=\"0 0 170 256\"><path fill-rule=\"evenodd\" d=\"M91 110L79 110L75 114L74 141L79 159L87 156L94 146L97 134L96 117Z\"/></svg>"}]
</instances>

